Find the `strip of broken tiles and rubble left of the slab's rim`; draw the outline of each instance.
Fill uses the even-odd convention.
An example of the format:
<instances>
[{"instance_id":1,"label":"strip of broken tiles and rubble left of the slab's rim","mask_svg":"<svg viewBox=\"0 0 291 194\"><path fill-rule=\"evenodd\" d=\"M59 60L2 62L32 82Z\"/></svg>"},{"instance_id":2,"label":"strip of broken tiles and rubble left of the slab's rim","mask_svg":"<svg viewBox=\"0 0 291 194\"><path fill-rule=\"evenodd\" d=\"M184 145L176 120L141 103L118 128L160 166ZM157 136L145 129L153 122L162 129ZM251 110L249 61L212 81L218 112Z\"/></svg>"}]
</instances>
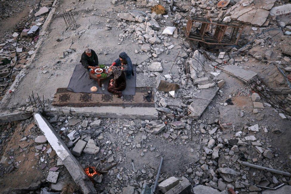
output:
<instances>
[{"instance_id":1,"label":"strip of broken tiles and rubble left of the slab's rim","mask_svg":"<svg viewBox=\"0 0 291 194\"><path fill-rule=\"evenodd\" d=\"M38 47L39 30L46 20L49 8L30 10L28 20L14 32L8 32L0 43L0 99L7 92L18 73L30 62ZM11 91L13 92L13 91Z\"/></svg>"}]
</instances>

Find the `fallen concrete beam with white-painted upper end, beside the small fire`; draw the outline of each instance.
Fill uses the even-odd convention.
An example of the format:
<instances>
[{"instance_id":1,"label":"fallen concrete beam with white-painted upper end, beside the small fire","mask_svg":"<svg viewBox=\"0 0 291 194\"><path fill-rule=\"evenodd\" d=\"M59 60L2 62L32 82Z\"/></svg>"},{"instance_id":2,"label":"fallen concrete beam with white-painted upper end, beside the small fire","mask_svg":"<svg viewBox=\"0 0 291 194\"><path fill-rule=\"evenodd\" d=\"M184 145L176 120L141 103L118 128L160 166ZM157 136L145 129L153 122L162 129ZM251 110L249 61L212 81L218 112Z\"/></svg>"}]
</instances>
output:
<instances>
[{"instance_id":1,"label":"fallen concrete beam with white-painted upper end, beside the small fire","mask_svg":"<svg viewBox=\"0 0 291 194\"><path fill-rule=\"evenodd\" d=\"M91 194L97 193L93 183L83 170L78 160L72 155L70 150L66 147L64 141L58 136L54 128L49 124L41 114L34 114L35 123L40 128L51 147L55 150L58 157L63 161L66 169L74 179L75 183L80 186L82 193Z\"/></svg>"}]
</instances>

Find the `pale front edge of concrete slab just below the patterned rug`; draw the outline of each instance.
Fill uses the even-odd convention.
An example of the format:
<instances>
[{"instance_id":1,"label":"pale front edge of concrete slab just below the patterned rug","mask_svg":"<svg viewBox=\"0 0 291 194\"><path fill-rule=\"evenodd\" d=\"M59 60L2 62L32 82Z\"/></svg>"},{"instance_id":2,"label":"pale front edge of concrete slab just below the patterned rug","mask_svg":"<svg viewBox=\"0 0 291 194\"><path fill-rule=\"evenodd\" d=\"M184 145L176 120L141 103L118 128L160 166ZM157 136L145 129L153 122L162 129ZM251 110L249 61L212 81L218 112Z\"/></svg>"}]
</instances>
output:
<instances>
[{"instance_id":1,"label":"pale front edge of concrete slab just below the patterned rug","mask_svg":"<svg viewBox=\"0 0 291 194\"><path fill-rule=\"evenodd\" d=\"M131 118L131 119L158 119L155 107L51 107L45 113L47 116L68 115L100 118Z\"/></svg>"}]
</instances>

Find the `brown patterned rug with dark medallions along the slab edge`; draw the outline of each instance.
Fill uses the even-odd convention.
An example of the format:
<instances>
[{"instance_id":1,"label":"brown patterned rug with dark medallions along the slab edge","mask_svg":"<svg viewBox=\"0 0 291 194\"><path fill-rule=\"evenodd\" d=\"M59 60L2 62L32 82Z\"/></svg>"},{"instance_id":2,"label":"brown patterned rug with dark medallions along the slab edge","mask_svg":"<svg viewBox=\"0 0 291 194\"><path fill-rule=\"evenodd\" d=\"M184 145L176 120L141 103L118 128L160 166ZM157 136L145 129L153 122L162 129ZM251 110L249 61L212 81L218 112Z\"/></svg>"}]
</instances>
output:
<instances>
[{"instance_id":1,"label":"brown patterned rug with dark medallions along the slab edge","mask_svg":"<svg viewBox=\"0 0 291 194\"><path fill-rule=\"evenodd\" d=\"M151 102L146 100L148 90L152 91ZM123 95L123 99L109 94L74 93L67 88L58 88L52 105L69 107L154 107L153 87L137 87L135 95Z\"/></svg>"}]
</instances>

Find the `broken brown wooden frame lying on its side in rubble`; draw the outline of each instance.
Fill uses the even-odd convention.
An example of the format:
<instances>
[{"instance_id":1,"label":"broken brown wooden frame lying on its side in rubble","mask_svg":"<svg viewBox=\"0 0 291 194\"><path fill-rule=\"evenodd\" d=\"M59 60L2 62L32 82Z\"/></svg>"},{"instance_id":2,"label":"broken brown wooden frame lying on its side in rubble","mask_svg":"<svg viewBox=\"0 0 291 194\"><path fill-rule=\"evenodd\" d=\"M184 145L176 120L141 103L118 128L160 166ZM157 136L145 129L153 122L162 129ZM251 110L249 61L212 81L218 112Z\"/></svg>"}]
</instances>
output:
<instances>
[{"instance_id":1,"label":"broken brown wooden frame lying on its side in rubble","mask_svg":"<svg viewBox=\"0 0 291 194\"><path fill-rule=\"evenodd\" d=\"M202 24L200 30L198 28L194 30L194 22ZM215 32L213 35L212 30L214 28ZM203 42L205 44L237 45L243 29L243 26L227 25L223 22L213 22L208 19L198 17L192 18L189 16L185 36L187 39ZM225 33L227 30L230 32L230 36L226 36Z\"/></svg>"}]
</instances>

